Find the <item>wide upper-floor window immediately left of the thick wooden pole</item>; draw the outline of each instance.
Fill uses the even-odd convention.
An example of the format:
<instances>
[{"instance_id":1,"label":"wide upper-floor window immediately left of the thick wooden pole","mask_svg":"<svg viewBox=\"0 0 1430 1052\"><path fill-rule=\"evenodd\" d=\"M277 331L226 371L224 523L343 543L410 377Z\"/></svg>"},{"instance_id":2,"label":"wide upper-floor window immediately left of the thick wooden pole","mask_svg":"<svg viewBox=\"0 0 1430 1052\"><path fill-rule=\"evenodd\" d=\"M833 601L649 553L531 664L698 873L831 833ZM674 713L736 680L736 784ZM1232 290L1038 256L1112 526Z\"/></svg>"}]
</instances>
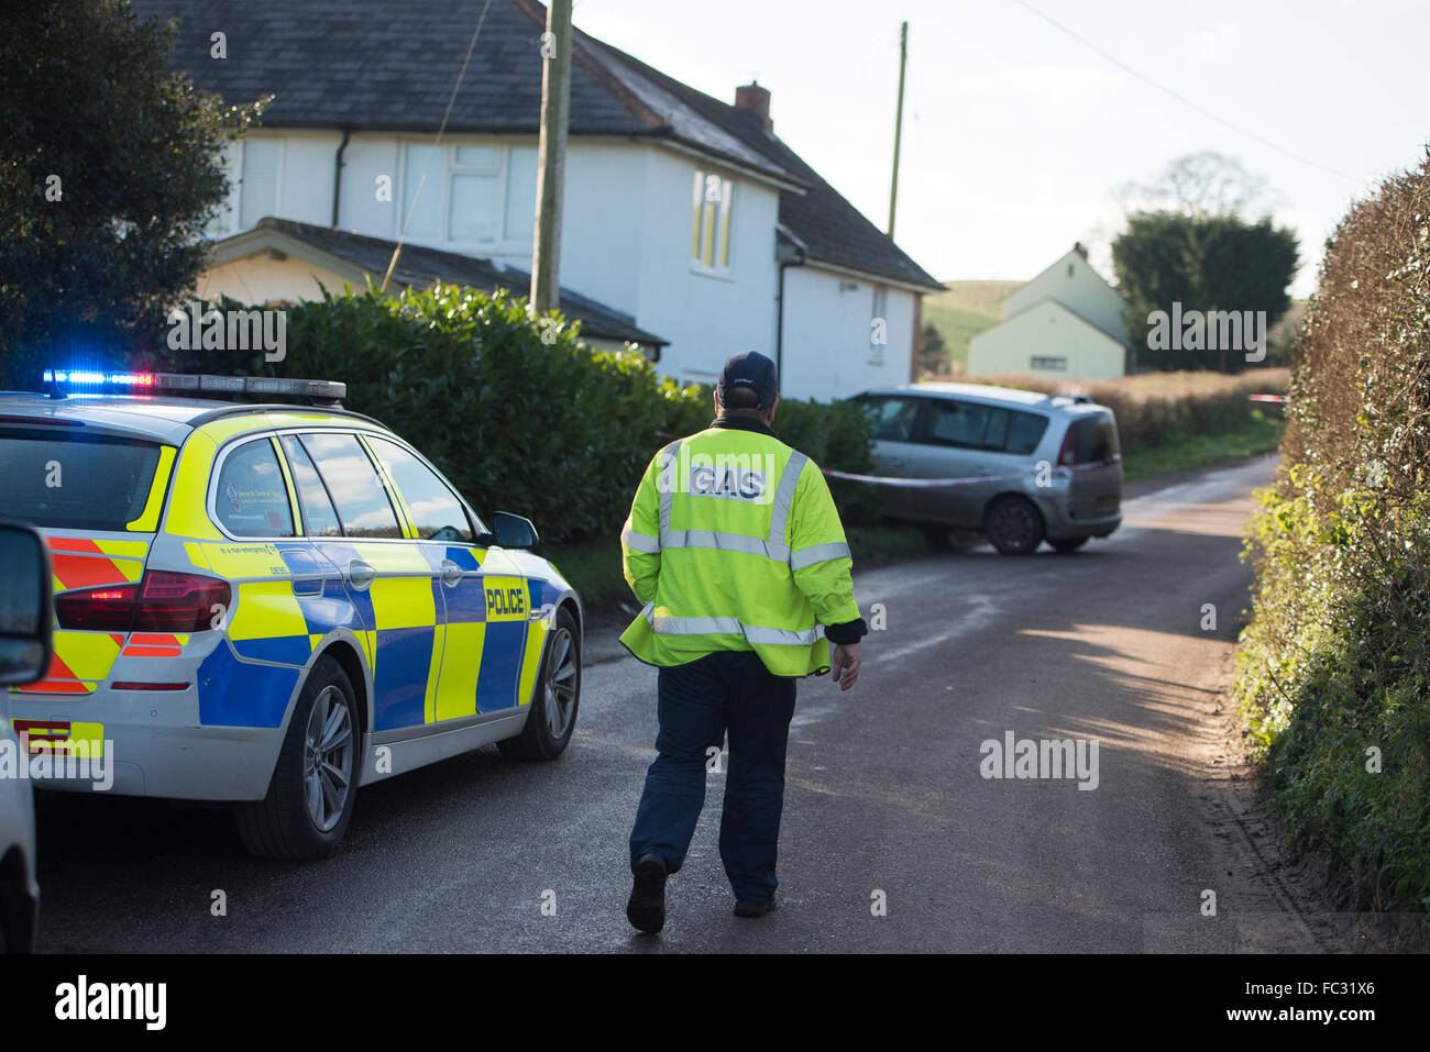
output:
<instances>
[{"instance_id":1,"label":"wide upper-floor window immediately left of the thick wooden pole","mask_svg":"<svg viewBox=\"0 0 1430 1052\"><path fill-rule=\"evenodd\" d=\"M398 232L409 239L529 244L535 216L535 147L403 144Z\"/></svg>"}]
</instances>

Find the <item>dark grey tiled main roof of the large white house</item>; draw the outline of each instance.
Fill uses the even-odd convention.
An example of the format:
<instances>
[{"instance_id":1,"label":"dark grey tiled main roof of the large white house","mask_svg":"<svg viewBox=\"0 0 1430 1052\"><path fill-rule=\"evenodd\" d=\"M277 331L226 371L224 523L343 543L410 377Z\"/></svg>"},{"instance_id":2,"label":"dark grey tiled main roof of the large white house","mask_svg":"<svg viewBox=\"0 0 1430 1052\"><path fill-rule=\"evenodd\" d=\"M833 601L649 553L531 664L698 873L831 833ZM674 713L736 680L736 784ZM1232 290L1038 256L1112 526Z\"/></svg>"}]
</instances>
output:
<instances>
[{"instance_id":1,"label":"dark grey tiled main roof of the large white house","mask_svg":"<svg viewBox=\"0 0 1430 1052\"><path fill-rule=\"evenodd\" d=\"M177 17L172 64L230 103L275 96L275 127L436 130L486 0L133 0ZM541 119L536 0L490 0L448 130L535 134ZM210 34L227 34L227 59ZM814 260L940 289L751 114L576 31L569 134L671 139L775 177L779 223Z\"/></svg>"}]
</instances>

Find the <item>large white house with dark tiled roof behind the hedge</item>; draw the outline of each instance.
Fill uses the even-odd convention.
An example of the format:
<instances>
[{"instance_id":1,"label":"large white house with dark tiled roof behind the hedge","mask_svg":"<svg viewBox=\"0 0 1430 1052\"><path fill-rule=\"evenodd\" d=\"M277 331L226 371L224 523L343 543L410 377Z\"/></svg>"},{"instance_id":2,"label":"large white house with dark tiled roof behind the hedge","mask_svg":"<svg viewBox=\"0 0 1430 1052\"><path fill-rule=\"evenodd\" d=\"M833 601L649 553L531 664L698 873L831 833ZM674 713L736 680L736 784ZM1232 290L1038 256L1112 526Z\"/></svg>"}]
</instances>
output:
<instances>
[{"instance_id":1,"label":"large white house with dark tiled roof behind the hedge","mask_svg":"<svg viewBox=\"0 0 1430 1052\"><path fill-rule=\"evenodd\" d=\"M319 282L380 283L406 227L399 287L526 294L535 0L492 0L433 146L483 3L133 0L142 19L179 19L172 64L196 87L275 96L229 150L233 192L200 293L295 300ZM779 360L786 396L911 379L921 297L941 286L774 134L768 90L742 86L728 104L579 30L572 50L561 284L586 337L636 342L685 382L754 347Z\"/></svg>"}]
</instances>

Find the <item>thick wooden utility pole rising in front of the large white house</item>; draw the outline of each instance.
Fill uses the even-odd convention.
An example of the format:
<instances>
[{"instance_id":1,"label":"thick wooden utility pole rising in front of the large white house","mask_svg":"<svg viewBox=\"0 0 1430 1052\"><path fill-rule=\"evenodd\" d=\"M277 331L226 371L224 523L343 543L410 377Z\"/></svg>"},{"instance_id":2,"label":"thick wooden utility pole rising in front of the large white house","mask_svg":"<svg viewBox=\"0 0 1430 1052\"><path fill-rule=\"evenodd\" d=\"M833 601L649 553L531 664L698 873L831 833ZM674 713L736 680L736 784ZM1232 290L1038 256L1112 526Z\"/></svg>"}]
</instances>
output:
<instances>
[{"instance_id":1,"label":"thick wooden utility pole rising in front of the large white house","mask_svg":"<svg viewBox=\"0 0 1430 1052\"><path fill-rule=\"evenodd\" d=\"M571 116L571 0L551 0L541 40L541 142L536 147L536 236L531 307L561 306L561 200Z\"/></svg>"}]
</instances>

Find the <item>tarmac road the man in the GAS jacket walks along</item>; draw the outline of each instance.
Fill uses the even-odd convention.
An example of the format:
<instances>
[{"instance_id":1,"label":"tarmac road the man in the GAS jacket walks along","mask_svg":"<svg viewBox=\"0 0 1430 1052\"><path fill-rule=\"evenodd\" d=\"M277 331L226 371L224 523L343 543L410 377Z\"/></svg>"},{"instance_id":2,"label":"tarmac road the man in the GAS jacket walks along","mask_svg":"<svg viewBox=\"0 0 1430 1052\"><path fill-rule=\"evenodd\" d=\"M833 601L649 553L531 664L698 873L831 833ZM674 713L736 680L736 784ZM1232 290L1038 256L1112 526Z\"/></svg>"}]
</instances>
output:
<instances>
[{"instance_id":1,"label":"tarmac road the man in the GAS jacket walks along","mask_svg":"<svg viewBox=\"0 0 1430 1052\"><path fill-rule=\"evenodd\" d=\"M606 632L588 640L559 762L488 748L365 789L323 863L249 858L220 809L41 795L41 949L1336 949L1268 872L1276 848L1223 773L1240 536L1273 465L1131 499L1118 533L1072 556L982 546L858 573L861 609L881 603L887 627L854 690L799 689L779 910L764 919L731 915L712 775L665 932L626 925L655 672ZM1095 739L1095 788L984 778L982 743L1010 732L1081 739L1087 763Z\"/></svg>"}]
</instances>

